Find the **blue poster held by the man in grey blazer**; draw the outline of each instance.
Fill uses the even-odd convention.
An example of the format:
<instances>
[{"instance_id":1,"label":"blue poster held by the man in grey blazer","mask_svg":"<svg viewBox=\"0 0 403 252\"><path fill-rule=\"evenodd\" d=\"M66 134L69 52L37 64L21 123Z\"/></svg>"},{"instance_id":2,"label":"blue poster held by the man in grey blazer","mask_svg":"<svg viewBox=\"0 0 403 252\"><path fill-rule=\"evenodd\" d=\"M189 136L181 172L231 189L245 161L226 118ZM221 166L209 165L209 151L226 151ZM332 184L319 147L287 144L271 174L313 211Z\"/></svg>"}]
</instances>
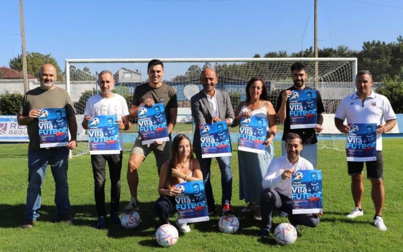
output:
<instances>
[{"instance_id":1,"label":"blue poster held by the man in grey blazer","mask_svg":"<svg viewBox=\"0 0 403 252\"><path fill-rule=\"evenodd\" d=\"M231 156L231 140L226 121L200 125L201 158Z\"/></svg>"}]
</instances>

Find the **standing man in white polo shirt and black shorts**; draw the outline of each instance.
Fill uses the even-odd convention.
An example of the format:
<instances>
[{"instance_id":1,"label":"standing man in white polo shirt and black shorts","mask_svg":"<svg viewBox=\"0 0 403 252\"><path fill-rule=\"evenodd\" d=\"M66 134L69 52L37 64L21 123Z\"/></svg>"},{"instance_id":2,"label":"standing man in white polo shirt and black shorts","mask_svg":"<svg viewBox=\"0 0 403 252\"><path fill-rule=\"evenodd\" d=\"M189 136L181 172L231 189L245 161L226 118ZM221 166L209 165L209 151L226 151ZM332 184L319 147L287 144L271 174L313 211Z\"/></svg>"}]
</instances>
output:
<instances>
[{"instance_id":1,"label":"standing man in white polo shirt and black shorts","mask_svg":"<svg viewBox=\"0 0 403 252\"><path fill-rule=\"evenodd\" d=\"M339 105L334 115L334 124L342 133L348 134L350 127L347 123L376 123L376 161L366 161L367 178L372 183L372 200L375 205L375 216L373 223L382 231L386 226L382 219L383 203L385 201L385 190L383 188L383 159L382 159L382 133L393 129L396 124L396 115L389 100L371 90L372 75L369 71L363 70L357 73L357 92L346 96ZM386 121L382 124L382 119ZM348 218L356 218L364 214L362 210L362 196L364 194L363 168L364 162L347 162L348 172L351 175L351 193L353 195L355 208L347 215Z\"/></svg>"}]
</instances>

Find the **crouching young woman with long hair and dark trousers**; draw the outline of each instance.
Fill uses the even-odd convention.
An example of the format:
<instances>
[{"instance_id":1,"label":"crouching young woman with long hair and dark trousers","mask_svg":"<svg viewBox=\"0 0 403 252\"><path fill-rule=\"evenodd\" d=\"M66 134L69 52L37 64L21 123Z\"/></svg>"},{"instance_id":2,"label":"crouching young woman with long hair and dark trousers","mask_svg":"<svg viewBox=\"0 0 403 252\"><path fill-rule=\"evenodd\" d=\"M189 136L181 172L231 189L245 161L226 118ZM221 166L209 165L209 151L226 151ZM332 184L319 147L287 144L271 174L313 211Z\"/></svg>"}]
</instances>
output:
<instances>
[{"instance_id":1,"label":"crouching young woman with long hair and dark trousers","mask_svg":"<svg viewBox=\"0 0 403 252\"><path fill-rule=\"evenodd\" d=\"M175 196L180 194L179 189L172 185L187 181L203 180L203 174L197 159L194 158L190 140L186 135L179 134L172 141L172 151L169 161L165 162L160 171L158 193L160 198L155 207L160 220L169 224L169 214L176 211ZM182 232L190 232L186 223L176 225Z\"/></svg>"}]
</instances>

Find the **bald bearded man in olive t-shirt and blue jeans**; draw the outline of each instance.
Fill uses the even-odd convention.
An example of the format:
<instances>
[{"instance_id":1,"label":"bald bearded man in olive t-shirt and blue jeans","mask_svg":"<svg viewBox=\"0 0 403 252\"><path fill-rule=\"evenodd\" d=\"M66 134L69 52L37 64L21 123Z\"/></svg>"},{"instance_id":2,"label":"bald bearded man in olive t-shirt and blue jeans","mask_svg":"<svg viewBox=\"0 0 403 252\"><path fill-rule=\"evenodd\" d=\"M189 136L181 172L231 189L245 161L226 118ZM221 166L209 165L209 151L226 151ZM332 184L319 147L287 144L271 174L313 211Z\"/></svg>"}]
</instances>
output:
<instances>
[{"instance_id":1,"label":"bald bearded man in olive t-shirt and blue jeans","mask_svg":"<svg viewBox=\"0 0 403 252\"><path fill-rule=\"evenodd\" d=\"M69 162L69 149L77 146L76 111L69 94L54 85L56 69L45 64L40 70L40 87L28 91L22 100L17 120L20 125L27 125L28 146L28 190L27 205L25 207L25 222L23 228L32 228L39 217L41 206L41 186L45 178L47 165L51 166L55 181L56 192L54 202L57 207L56 221L70 223L69 184L67 170ZM42 108L64 108L71 139L66 147L40 148L38 117Z\"/></svg>"}]
</instances>

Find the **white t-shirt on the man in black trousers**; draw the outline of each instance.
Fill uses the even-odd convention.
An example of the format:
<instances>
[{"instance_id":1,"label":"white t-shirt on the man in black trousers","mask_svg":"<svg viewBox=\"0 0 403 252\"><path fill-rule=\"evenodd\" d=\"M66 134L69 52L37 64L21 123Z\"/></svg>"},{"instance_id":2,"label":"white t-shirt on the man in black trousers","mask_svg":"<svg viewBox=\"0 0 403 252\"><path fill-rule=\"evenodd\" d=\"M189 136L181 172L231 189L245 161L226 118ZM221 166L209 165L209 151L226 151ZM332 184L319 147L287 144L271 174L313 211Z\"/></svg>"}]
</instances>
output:
<instances>
[{"instance_id":1,"label":"white t-shirt on the man in black trousers","mask_svg":"<svg viewBox=\"0 0 403 252\"><path fill-rule=\"evenodd\" d=\"M94 115L117 115L118 119L128 115L126 100L119 94L115 94L113 97L104 98L100 94L91 96L85 106L84 113L89 116ZM107 132L109 135L115 135L114 132ZM121 134L119 130L119 139ZM120 141L120 150L124 150L123 141Z\"/></svg>"}]
</instances>

